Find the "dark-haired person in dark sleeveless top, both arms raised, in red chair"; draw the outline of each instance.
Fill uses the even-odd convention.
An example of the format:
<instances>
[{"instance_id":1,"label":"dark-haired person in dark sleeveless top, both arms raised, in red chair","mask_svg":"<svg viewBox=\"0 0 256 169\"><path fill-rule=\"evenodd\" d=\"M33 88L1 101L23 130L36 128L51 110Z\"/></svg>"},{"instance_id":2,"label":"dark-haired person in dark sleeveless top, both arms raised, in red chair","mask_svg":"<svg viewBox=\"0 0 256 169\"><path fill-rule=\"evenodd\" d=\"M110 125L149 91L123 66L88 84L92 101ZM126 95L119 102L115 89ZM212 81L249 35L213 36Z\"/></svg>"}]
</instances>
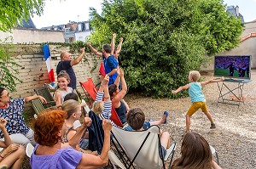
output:
<instances>
[{"instance_id":1,"label":"dark-haired person in dark sleeveless top, both arms raised, in red chair","mask_svg":"<svg viewBox=\"0 0 256 169\"><path fill-rule=\"evenodd\" d=\"M128 104L126 104L124 97L127 93L127 85L125 82L124 70L117 70L118 77L114 84L108 87L110 99L117 114L119 115L120 121L124 124L126 122L126 113L129 110ZM122 89L119 90L119 82L121 79Z\"/></svg>"}]
</instances>

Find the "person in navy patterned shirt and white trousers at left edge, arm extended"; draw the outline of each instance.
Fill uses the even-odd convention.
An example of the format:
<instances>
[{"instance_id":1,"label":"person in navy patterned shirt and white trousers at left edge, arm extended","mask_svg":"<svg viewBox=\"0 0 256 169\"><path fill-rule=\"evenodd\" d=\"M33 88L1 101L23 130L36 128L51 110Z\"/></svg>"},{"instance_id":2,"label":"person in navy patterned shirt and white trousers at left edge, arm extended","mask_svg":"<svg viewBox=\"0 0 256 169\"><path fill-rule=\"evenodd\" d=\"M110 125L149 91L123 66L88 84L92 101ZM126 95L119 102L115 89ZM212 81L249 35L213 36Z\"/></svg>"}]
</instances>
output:
<instances>
[{"instance_id":1,"label":"person in navy patterned shirt and white trousers at left edge, arm extended","mask_svg":"<svg viewBox=\"0 0 256 169\"><path fill-rule=\"evenodd\" d=\"M0 87L0 116L7 120L7 132L15 144L28 144L29 142L36 144L34 132L26 125L22 115L24 105L32 99L40 99L46 103L46 100L39 95L28 96L24 99L10 99L7 90ZM0 138L3 138L2 131L0 131Z\"/></svg>"}]
</instances>

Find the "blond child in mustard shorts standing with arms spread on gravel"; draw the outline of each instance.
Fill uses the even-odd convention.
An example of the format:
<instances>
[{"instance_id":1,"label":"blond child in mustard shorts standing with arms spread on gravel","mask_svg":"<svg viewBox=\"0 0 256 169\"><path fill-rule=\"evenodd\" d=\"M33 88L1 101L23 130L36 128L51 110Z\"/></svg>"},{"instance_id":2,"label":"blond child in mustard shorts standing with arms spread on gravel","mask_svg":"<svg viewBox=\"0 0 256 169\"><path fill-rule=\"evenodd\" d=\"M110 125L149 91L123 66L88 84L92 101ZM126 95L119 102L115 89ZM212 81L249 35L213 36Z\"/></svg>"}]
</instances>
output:
<instances>
[{"instance_id":1,"label":"blond child in mustard shorts standing with arms spread on gravel","mask_svg":"<svg viewBox=\"0 0 256 169\"><path fill-rule=\"evenodd\" d=\"M190 116L195 113L196 110L201 109L205 115L207 115L207 118L209 121L211 121L211 129L216 128L214 122L212 121L212 115L207 110L207 104L204 94L201 91L202 85L207 85L209 83L213 82L222 82L224 81L224 77L222 76L218 80L209 80L205 82L197 82L200 79L200 73L199 71L192 70L189 71L189 84L178 87L177 90L172 90L172 93L176 94L182 90L189 88L189 98L191 99L192 105L189 107L189 110L186 115L186 132L189 132L189 126L190 126Z\"/></svg>"}]
</instances>

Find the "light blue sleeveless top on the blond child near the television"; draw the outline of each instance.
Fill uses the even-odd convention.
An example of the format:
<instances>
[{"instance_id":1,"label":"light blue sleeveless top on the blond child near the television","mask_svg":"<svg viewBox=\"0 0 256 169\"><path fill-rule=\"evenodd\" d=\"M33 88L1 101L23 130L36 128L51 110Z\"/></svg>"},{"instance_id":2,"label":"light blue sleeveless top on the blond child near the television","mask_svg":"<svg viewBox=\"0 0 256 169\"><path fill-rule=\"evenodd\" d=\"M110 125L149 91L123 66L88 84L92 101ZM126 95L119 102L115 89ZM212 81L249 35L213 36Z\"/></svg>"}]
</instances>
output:
<instances>
[{"instance_id":1,"label":"light blue sleeveless top on the blond child near the television","mask_svg":"<svg viewBox=\"0 0 256 169\"><path fill-rule=\"evenodd\" d=\"M189 83L189 97L192 103L206 101L204 94L201 92L200 82Z\"/></svg>"}]
</instances>

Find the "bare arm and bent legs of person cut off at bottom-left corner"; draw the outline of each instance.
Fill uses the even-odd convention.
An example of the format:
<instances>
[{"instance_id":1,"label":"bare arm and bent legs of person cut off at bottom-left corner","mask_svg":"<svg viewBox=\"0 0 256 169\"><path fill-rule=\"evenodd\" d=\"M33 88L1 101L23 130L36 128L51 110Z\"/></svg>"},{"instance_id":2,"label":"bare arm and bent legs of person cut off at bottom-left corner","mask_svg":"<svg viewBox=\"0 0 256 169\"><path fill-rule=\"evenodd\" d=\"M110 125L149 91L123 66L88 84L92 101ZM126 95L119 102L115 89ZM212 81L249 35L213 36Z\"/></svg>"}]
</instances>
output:
<instances>
[{"instance_id":1,"label":"bare arm and bent legs of person cut off at bottom-left corner","mask_svg":"<svg viewBox=\"0 0 256 169\"><path fill-rule=\"evenodd\" d=\"M12 144L11 138L5 128L7 121L0 117L0 129L4 141L0 140L0 147L5 148L0 154L0 168L21 168L25 158L25 148L19 144Z\"/></svg>"}]
</instances>

